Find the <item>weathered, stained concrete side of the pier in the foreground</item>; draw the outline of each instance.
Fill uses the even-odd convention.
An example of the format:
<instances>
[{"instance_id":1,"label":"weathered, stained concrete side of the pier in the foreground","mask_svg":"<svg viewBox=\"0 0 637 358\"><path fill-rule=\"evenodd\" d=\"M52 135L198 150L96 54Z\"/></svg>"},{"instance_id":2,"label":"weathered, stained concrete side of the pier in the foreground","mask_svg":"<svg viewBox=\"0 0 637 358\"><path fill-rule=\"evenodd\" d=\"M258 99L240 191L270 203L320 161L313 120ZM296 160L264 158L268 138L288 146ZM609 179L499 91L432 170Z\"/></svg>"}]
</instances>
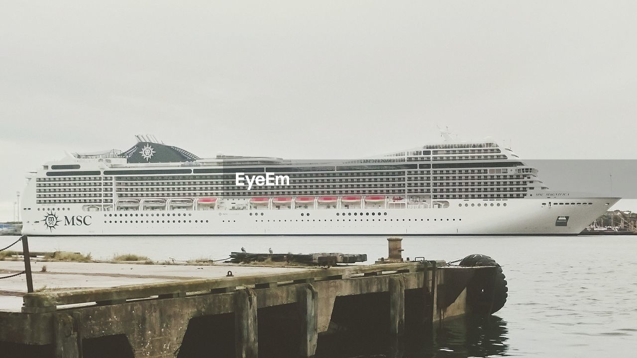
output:
<instances>
[{"instance_id":1,"label":"weathered, stained concrete side of the pier in the foreground","mask_svg":"<svg viewBox=\"0 0 637 358\"><path fill-rule=\"evenodd\" d=\"M152 265L143 269L161 271ZM427 326L467 313L466 285L490 276L476 272L494 271L493 266L458 268L443 261L252 268L258 272L254 275L245 266L215 269L234 273L24 294L20 311L0 311L0 351L79 358L104 347L122 357L187 357L201 350L225 357L313 357L320 336L331 334L335 322L347 324L342 315L349 307L385 326L388 347L395 350L407 315L412 324ZM242 275L235 274L241 270ZM382 297L385 308L376 306Z\"/></svg>"}]
</instances>

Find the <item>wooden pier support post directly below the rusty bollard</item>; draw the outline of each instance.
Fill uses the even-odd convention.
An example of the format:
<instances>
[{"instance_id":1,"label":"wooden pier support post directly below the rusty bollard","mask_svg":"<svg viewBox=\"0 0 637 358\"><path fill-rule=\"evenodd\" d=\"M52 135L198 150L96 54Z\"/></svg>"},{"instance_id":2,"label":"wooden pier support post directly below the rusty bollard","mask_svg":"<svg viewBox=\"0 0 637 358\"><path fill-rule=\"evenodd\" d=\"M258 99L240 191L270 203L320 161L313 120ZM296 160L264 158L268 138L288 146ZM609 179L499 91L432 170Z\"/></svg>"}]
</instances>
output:
<instances>
[{"instance_id":1,"label":"wooden pier support post directly below the rusty bollard","mask_svg":"<svg viewBox=\"0 0 637 358\"><path fill-rule=\"evenodd\" d=\"M389 335L390 355L401 356L404 334L404 280L403 275L389 277Z\"/></svg>"}]
</instances>

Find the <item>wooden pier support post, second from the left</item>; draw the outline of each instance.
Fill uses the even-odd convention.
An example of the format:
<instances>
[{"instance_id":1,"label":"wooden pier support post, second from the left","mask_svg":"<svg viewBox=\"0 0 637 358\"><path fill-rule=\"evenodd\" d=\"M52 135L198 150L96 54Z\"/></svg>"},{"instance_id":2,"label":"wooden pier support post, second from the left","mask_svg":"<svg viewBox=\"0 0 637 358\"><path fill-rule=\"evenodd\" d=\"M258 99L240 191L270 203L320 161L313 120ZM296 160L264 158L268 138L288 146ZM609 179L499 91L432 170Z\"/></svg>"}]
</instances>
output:
<instances>
[{"instance_id":1,"label":"wooden pier support post, second from the left","mask_svg":"<svg viewBox=\"0 0 637 358\"><path fill-rule=\"evenodd\" d=\"M253 289L234 294L234 347L237 358L259 356L257 295Z\"/></svg>"}]
</instances>

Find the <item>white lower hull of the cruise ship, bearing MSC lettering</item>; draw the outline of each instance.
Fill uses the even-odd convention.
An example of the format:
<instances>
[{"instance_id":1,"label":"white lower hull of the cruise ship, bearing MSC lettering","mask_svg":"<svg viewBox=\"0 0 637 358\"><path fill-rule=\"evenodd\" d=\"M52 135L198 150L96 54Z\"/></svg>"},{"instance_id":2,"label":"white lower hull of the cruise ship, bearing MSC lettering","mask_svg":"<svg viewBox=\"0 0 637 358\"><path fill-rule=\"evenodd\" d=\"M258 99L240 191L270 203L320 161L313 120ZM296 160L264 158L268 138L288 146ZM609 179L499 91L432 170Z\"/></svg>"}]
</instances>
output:
<instances>
[{"instance_id":1,"label":"white lower hull of the cruise ship, bearing MSC lettering","mask_svg":"<svg viewBox=\"0 0 637 358\"><path fill-rule=\"evenodd\" d=\"M29 213L31 220L25 220L22 233L33 236L574 235L618 200L615 197L450 199L448 208L344 210L83 211L80 205L65 205L42 207L41 211Z\"/></svg>"}]
</instances>

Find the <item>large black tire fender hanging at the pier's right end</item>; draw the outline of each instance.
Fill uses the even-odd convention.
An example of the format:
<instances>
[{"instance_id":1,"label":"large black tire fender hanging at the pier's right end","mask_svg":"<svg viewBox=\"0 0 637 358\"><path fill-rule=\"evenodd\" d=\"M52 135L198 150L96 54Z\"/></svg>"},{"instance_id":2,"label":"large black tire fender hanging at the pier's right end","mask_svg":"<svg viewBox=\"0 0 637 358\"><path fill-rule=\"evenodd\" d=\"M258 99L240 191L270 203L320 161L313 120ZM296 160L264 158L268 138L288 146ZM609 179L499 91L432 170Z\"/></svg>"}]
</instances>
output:
<instances>
[{"instance_id":1,"label":"large black tire fender hanging at the pier's right end","mask_svg":"<svg viewBox=\"0 0 637 358\"><path fill-rule=\"evenodd\" d=\"M460 266L496 266L495 276L491 272L476 271L467 285L467 304L469 310L482 315L499 311L506 303L509 290L500 265L487 255L473 254L462 259Z\"/></svg>"}]
</instances>

